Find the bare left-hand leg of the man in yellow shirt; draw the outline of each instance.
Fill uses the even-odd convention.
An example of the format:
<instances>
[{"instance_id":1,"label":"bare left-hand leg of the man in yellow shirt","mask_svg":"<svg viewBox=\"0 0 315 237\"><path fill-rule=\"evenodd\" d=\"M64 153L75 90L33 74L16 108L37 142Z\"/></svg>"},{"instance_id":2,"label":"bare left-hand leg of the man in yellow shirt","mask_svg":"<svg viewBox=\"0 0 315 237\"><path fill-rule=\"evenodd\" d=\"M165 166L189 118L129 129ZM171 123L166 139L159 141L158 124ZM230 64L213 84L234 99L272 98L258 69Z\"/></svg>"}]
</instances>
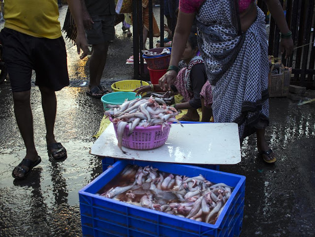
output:
<instances>
[{"instance_id":1,"label":"bare left-hand leg of the man in yellow shirt","mask_svg":"<svg viewBox=\"0 0 315 237\"><path fill-rule=\"evenodd\" d=\"M31 91L13 92L14 101L14 114L16 122L20 129L25 147L26 147L26 159L35 161L37 159L37 151L34 145L34 132L33 132L33 116L30 104ZM26 171L29 167L22 166ZM23 178L23 173L18 170L14 170L14 175Z\"/></svg>"}]
</instances>

